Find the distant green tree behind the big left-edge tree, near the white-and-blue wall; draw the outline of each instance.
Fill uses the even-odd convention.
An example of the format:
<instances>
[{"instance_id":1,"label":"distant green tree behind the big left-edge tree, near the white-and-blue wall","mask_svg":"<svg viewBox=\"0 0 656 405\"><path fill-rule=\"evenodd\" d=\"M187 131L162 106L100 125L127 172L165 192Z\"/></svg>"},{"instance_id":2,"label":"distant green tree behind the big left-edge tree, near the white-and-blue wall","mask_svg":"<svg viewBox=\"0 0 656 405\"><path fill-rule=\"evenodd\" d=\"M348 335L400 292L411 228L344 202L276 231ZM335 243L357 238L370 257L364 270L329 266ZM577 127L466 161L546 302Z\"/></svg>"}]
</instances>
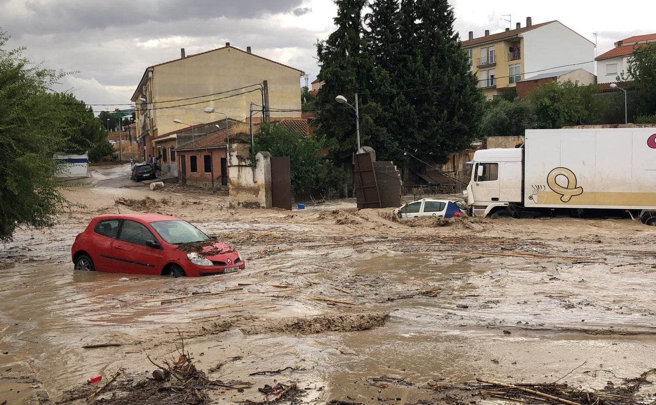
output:
<instances>
[{"instance_id":1,"label":"distant green tree behind the big left-edge tree, near the white-and-blue wall","mask_svg":"<svg viewBox=\"0 0 656 405\"><path fill-rule=\"evenodd\" d=\"M73 94L53 93L52 102L62 107L64 127L61 134L66 139L63 152L85 153L94 145L107 139L107 131L93 115L93 109L75 98Z\"/></svg>"}]
</instances>

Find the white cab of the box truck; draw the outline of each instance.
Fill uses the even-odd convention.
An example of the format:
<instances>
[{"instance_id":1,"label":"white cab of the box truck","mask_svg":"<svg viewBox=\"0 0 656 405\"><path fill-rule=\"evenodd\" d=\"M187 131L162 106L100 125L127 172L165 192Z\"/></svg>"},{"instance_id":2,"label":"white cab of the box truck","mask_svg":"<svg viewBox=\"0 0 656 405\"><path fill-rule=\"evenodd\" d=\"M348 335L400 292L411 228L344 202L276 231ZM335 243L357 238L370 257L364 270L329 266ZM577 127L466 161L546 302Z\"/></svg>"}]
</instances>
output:
<instances>
[{"instance_id":1,"label":"white cab of the box truck","mask_svg":"<svg viewBox=\"0 0 656 405\"><path fill-rule=\"evenodd\" d=\"M474 153L467 203L472 216L509 216L508 205L522 202L523 149L483 149Z\"/></svg>"}]
</instances>

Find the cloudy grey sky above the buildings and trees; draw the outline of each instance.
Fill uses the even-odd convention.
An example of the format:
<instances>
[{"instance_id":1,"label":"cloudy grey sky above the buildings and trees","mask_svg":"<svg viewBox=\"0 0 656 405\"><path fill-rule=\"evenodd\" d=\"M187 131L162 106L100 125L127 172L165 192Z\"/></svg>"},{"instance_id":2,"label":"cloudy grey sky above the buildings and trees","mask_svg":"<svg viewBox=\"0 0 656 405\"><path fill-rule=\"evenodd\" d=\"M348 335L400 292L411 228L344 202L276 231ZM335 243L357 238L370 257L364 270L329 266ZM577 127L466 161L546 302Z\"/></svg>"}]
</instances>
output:
<instances>
[{"instance_id":1,"label":"cloudy grey sky above the buildings and trees","mask_svg":"<svg viewBox=\"0 0 656 405\"><path fill-rule=\"evenodd\" d=\"M450 0L461 37L510 26L560 20L594 42L598 54L631 35L655 33L656 2L625 0ZM72 90L96 111L130 104L147 66L224 46L308 73L319 71L315 43L333 31L332 0L0 0L0 28L9 47L43 66L74 71L58 90ZM638 10L640 10L638 12ZM567 46L562 44L561 46ZM304 81L301 81L301 84Z\"/></svg>"}]
</instances>

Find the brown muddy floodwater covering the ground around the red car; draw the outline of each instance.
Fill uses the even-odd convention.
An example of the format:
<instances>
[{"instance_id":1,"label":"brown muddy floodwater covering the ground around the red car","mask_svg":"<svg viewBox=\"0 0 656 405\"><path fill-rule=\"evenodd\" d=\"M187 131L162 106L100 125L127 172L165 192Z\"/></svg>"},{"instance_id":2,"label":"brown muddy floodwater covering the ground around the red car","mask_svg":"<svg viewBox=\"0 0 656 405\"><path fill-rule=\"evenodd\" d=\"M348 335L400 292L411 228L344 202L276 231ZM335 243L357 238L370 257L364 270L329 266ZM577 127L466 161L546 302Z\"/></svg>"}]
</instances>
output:
<instances>
[{"instance_id":1,"label":"brown muddy floodwater covering the ground around the red car","mask_svg":"<svg viewBox=\"0 0 656 405\"><path fill-rule=\"evenodd\" d=\"M194 189L150 191L128 172L96 170L66 191L84 206L2 246L0 404L83 404L114 376L89 402L468 404L493 398L465 384L477 378L599 391L656 368L654 227L398 223L352 200L241 210ZM180 216L234 244L247 267L183 279L73 271L75 235L108 212ZM105 343L117 345L83 348ZM180 353L203 378L154 381L153 362ZM654 376L641 378L634 391L653 402ZM617 392L605 402L621 403Z\"/></svg>"}]
</instances>

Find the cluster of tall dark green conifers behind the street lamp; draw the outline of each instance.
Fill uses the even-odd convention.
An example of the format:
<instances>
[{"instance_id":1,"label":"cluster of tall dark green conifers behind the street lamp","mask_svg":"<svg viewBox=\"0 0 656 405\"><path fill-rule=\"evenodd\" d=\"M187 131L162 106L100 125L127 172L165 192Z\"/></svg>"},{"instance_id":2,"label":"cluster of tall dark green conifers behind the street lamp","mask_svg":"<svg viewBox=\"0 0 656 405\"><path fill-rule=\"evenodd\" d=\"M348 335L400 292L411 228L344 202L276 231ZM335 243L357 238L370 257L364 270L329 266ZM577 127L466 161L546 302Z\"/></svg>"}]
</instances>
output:
<instances>
[{"instance_id":1,"label":"cluster of tall dark green conifers behind the street lamp","mask_svg":"<svg viewBox=\"0 0 656 405\"><path fill-rule=\"evenodd\" d=\"M318 132L344 163L355 151L352 108L359 95L360 138L381 159L405 164L405 151L441 163L478 134L483 94L453 29L446 0L336 0L337 29L318 43L324 82ZM370 12L362 18L363 7Z\"/></svg>"}]
</instances>

